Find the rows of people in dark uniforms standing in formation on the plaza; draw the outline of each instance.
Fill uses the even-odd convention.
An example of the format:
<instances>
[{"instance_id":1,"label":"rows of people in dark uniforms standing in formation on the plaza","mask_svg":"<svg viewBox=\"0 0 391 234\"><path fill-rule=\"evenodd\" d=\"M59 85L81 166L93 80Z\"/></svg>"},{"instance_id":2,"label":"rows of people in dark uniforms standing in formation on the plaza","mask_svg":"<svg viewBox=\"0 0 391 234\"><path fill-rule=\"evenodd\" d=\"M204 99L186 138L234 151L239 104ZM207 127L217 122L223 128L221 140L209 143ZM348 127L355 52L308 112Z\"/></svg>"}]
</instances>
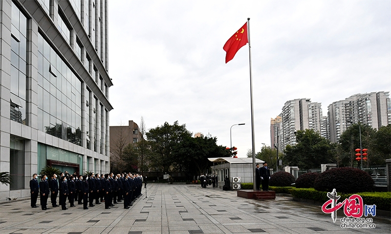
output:
<instances>
[{"instance_id":1,"label":"rows of people in dark uniforms standing in formation on the plaza","mask_svg":"<svg viewBox=\"0 0 391 234\"><path fill-rule=\"evenodd\" d=\"M37 208L38 194L42 210L47 210L47 200L50 196L52 207L66 208L66 199L70 207L83 205L84 210L88 207L105 203L105 209L110 209L114 204L124 201L124 209L129 209L134 201L139 198L143 184L143 176L138 174L124 173L114 175L94 174L72 175L61 173L60 179L56 174L50 176L41 175L41 181L38 182L38 175L33 174L30 181L31 207ZM57 205L57 196L59 196L59 205ZM95 205L94 205L95 203Z\"/></svg>"}]
</instances>

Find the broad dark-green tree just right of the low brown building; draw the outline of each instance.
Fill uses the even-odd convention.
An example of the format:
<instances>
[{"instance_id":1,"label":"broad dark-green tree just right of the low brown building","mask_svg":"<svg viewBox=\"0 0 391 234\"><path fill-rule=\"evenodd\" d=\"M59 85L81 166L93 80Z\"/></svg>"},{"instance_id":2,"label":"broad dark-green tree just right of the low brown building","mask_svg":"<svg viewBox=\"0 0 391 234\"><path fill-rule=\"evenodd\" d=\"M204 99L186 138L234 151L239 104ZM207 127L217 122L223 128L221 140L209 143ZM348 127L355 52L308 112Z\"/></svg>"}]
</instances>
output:
<instances>
[{"instance_id":1,"label":"broad dark-green tree just right of the low brown building","mask_svg":"<svg viewBox=\"0 0 391 234\"><path fill-rule=\"evenodd\" d=\"M150 142L151 155L149 155L152 169L168 172L174 163L173 150L176 144L186 137L191 137L192 133L186 129L186 125L179 125L175 121L173 125L165 122L160 127L152 128L146 133Z\"/></svg>"}]
</instances>

